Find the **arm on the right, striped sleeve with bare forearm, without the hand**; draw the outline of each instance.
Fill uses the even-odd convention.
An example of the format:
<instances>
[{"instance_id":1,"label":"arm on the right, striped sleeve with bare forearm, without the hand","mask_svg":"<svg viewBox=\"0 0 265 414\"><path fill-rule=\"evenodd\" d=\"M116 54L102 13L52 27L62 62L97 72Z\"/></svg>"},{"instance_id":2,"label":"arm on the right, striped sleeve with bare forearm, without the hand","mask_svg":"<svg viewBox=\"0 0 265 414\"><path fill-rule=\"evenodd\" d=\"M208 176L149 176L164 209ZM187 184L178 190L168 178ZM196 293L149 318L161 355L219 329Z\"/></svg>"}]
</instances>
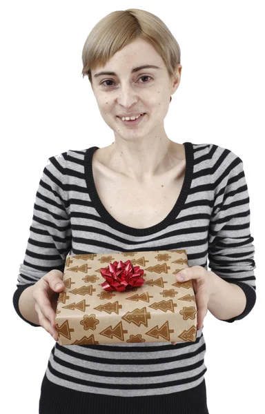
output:
<instances>
[{"instance_id":1,"label":"arm on the right, striped sleeve with bare forearm, without the hand","mask_svg":"<svg viewBox=\"0 0 265 414\"><path fill-rule=\"evenodd\" d=\"M218 319L235 322L255 305L255 248L242 160L229 150L220 150L223 161L213 174L215 199L208 233L212 270L208 310Z\"/></svg>"}]
</instances>

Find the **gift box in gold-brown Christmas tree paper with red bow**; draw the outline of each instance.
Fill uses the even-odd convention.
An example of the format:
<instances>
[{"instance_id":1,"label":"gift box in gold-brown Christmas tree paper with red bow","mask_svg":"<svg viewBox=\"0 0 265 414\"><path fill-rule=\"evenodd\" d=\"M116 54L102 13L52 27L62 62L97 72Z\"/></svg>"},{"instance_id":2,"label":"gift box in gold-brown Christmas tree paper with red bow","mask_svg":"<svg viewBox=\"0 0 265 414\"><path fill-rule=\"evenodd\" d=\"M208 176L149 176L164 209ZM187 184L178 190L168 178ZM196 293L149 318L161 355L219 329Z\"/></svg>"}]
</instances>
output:
<instances>
[{"instance_id":1,"label":"gift box in gold-brown Christmas tree paper with red bow","mask_svg":"<svg viewBox=\"0 0 265 414\"><path fill-rule=\"evenodd\" d=\"M186 250L68 255L57 299L60 345L195 342L193 282L177 282Z\"/></svg>"}]
</instances>

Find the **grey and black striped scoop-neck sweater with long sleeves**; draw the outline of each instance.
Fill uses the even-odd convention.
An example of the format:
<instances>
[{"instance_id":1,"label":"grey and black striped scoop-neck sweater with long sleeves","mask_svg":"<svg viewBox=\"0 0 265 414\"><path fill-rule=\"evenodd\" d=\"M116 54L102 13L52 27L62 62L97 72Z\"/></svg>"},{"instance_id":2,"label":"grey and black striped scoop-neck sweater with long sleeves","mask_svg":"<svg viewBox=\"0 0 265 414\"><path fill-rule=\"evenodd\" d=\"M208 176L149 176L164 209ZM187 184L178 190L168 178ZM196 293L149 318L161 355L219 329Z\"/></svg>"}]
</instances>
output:
<instances>
[{"instance_id":1,"label":"grey and black striped scoop-neck sweater with long sleeves","mask_svg":"<svg viewBox=\"0 0 265 414\"><path fill-rule=\"evenodd\" d=\"M163 221L131 228L112 217L92 175L97 146L48 159L39 181L30 236L13 304L66 255L186 249L188 266L208 267L246 294L242 319L255 305L255 261L248 188L242 159L215 144L184 143L186 172L175 206ZM28 322L28 321L26 321ZM38 326L28 322L32 326ZM168 395L202 384L206 365L202 329L196 342L98 344L52 348L46 376L58 386L97 395ZM53 412L53 411L52 411Z\"/></svg>"}]
</instances>

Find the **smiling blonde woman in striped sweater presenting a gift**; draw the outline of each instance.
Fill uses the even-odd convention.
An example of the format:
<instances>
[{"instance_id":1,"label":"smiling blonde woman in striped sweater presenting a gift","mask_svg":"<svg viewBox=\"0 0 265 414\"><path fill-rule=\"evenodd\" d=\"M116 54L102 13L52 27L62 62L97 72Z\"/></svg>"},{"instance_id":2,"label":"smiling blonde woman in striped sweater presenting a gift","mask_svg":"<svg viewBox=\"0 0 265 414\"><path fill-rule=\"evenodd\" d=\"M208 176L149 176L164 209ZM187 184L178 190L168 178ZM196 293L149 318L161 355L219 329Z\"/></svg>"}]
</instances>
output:
<instances>
[{"instance_id":1,"label":"smiling blonde woman in striped sweater presenting a gift","mask_svg":"<svg viewBox=\"0 0 265 414\"><path fill-rule=\"evenodd\" d=\"M14 307L57 341L55 309L66 255L185 248L189 268L181 273L195 287L197 340L55 343L39 413L208 413L204 317L209 309L234 322L255 304L242 160L215 144L177 144L166 135L170 95L181 77L180 50L154 14L108 14L90 32L83 63L115 141L50 157Z\"/></svg>"}]
</instances>

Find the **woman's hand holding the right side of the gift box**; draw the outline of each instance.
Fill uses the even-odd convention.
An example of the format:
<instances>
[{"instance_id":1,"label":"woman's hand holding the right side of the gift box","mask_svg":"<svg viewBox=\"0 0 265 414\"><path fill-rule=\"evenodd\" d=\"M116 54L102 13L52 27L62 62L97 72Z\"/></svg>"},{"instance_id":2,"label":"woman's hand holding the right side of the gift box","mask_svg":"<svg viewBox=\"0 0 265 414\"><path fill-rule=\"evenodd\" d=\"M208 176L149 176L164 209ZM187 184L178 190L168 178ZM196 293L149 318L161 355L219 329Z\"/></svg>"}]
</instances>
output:
<instances>
[{"instance_id":1,"label":"woman's hand holding the right side of the gift box","mask_svg":"<svg viewBox=\"0 0 265 414\"><path fill-rule=\"evenodd\" d=\"M183 279L180 279L183 276ZM193 279L193 288L197 304L197 329L202 329L204 317L208 312L208 302L211 293L210 272L202 266L191 266L181 270L176 275L177 282ZM171 342L175 345L177 342Z\"/></svg>"}]
</instances>

